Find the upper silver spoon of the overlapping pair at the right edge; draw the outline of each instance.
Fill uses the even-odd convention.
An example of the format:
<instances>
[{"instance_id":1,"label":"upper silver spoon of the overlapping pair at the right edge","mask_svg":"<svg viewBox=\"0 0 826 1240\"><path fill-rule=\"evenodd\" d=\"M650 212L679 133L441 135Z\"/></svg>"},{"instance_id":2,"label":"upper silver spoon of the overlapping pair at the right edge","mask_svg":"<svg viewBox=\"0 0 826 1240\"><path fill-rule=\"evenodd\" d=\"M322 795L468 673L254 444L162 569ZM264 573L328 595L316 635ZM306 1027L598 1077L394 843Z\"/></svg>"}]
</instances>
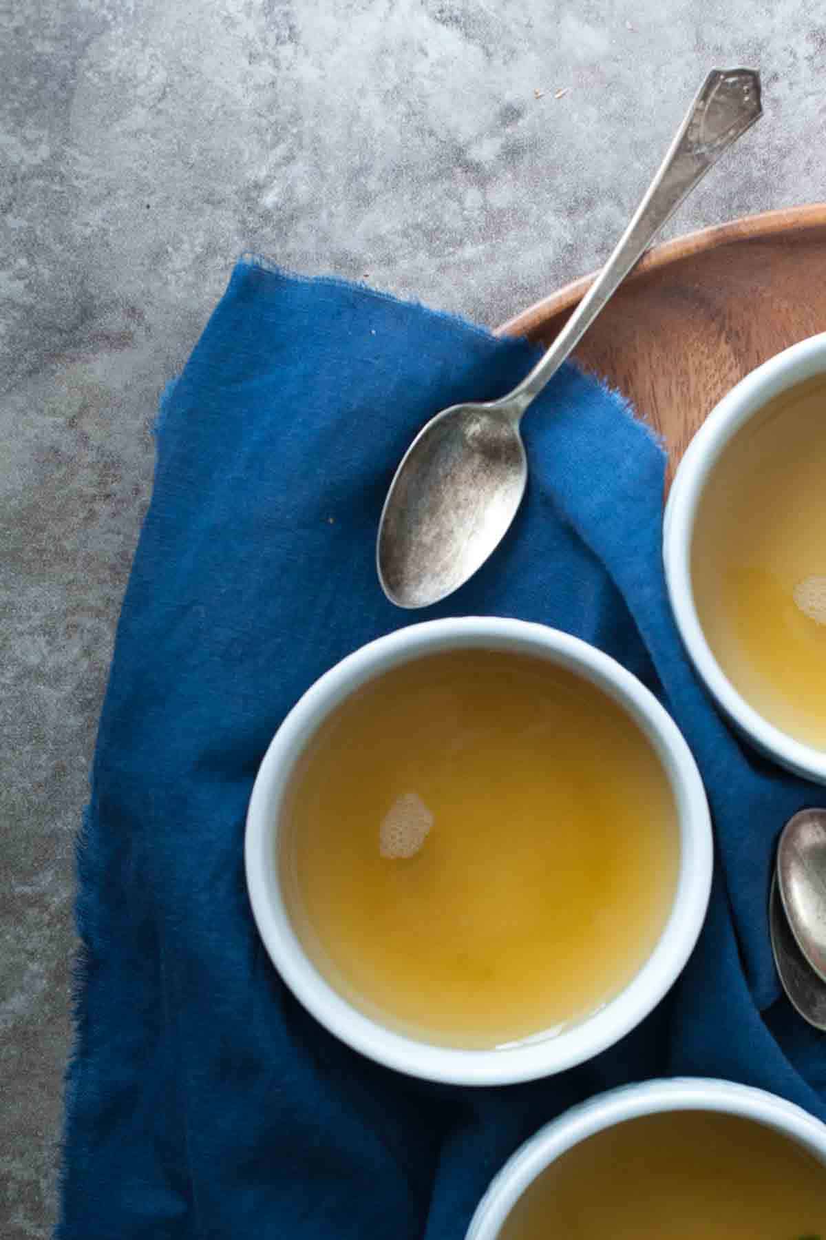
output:
<instances>
[{"instance_id":1,"label":"upper silver spoon of the overlapping pair at the right edge","mask_svg":"<svg viewBox=\"0 0 826 1240\"><path fill-rule=\"evenodd\" d=\"M786 822L778 887L798 946L826 986L826 810L801 810Z\"/></svg>"}]
</instances>

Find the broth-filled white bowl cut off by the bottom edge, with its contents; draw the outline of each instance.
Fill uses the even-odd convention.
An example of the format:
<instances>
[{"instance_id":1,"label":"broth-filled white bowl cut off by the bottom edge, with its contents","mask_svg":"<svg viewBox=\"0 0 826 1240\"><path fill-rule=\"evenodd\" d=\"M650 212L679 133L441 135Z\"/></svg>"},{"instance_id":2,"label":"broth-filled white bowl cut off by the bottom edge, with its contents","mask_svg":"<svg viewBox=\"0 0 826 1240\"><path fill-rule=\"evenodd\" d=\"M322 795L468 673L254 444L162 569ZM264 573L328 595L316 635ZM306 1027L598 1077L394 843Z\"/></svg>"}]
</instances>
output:
<instances>
[{"instance_id":1,"label":"broth-filled white bowl cut off by the bottom edge, with its contents","mask_svg":"<svg viewBox=\"0 0 826 1240\"><path fill-rule=\"evenodd\" d=\"M763 1090L703 1078L601 1094L493 1179L466 1240L819 1240L826 1126Z\"/></svg>"}]
</instances>

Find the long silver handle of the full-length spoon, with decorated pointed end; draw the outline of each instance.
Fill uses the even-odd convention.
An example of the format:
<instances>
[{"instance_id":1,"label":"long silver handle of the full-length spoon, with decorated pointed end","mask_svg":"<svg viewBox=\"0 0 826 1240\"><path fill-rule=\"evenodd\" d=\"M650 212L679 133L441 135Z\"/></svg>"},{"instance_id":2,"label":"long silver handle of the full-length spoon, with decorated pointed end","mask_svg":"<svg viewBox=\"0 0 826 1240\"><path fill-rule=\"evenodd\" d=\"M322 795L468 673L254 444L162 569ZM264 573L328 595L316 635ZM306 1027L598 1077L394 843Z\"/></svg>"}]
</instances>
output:
<instances>
[{"instance_id":1,"label":"long silver handle of the full-length spoon, with decorated pointed end","mask_svg":"<svg viewBox=\"0 0 826 1240\"><path fill-rule=\"evenodd\" d=\"M711 71L613 254L542 360L498 404L521 417L576 348L666 219L760 114L757 69Z\"/></svg>"}]
</instances>

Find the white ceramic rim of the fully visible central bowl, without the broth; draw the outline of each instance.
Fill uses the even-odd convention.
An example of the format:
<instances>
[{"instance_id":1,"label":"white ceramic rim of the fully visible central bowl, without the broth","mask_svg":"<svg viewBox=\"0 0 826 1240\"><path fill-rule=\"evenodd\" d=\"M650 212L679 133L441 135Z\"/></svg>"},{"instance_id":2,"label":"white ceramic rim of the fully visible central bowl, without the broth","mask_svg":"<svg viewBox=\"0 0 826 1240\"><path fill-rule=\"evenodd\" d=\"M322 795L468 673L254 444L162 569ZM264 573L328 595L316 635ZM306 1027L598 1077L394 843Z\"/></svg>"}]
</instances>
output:
<instances>
[{"instance_id":1,"label":"white ceramic rim of the fully visible central bowl, without the broth","mask_svg":"<svg viewBox=\"0 0 826 1240\"><path fill-rule=\"evenodd\" d=\"M680 866L665 929L645 965L614 999L556 1037L492 1050L431 1045L364 1016L322 977L296 936L277 872L276 836L290 775L322 720L359 686L389 668L457 647L531 655L571 668L614 698L650 739L677 807ZM245 837L246 885L264 945L303 1006L355 1050L412 1076L463 1085L504 1085L562 1071L612 1045L663 998L700 934L712 870L706 795L689 748L651 693L613 658L568 634L521 620L450 619L411 625L349 655L322 676L275 734L253 787Z\"/></svg>"}]
</instances>

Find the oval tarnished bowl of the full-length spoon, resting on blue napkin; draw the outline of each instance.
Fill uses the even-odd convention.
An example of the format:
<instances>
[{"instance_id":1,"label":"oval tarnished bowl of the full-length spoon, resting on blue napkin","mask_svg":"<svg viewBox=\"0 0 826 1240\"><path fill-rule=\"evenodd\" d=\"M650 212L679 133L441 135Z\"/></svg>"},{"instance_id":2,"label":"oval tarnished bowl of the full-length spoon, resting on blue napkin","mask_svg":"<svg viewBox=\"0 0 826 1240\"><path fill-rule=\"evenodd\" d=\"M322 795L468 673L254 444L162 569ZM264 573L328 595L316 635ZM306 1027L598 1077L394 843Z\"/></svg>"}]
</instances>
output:
<instances>
[{"instance_id":1,"label":"oval tarnished bowl of the full-length spoon, resting on blue napkin","mask_svg":"<svg viewBox=\"0 0 826 1240\"><path fill-rule=\"evenodd\" d=\"M528 481L519 418L506 404L454 404L414 439L388 492L376 568L400 608L452 594L484 564Z\"/></svg>"}]
</instances>

